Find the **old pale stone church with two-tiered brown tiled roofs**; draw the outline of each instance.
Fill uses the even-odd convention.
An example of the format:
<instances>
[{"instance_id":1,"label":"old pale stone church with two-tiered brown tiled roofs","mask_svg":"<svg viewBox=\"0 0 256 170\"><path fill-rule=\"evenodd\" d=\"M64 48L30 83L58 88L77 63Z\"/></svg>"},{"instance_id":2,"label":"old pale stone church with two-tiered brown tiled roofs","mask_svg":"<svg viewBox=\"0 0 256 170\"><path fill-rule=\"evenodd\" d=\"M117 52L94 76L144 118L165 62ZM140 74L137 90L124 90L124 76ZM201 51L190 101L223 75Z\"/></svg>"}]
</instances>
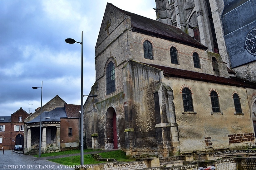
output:
<instances>
[{"instance_id":1,"label":"old pale stone church with two-tiered brown tiled roofs","mask_svg":"<svg viewBox=\"0 0 256 170\"><path fill-rule=\"evenodd\" d=\"M88 148L170 156L255 144L256 84L235 77L225 49L171 25L107 3L90 92L98 97L84 105Z\"/></svg>"}]
</instances>

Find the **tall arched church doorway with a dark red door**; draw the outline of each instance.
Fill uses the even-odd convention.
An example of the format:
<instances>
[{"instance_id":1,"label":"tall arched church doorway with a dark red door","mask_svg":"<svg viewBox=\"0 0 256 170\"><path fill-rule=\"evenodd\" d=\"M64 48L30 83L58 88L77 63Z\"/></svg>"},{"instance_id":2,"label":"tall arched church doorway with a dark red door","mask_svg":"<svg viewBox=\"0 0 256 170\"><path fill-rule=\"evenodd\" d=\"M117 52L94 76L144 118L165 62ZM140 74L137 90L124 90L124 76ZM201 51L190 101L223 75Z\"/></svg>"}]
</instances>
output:
<instances>
[{"instance_id":1,"label":"tall arched church doorway with a dark red door","mask_svg":"<svg viewBox=\"0 0 256 170\"><path fill-rule=\"evenodd\" d=\"M106 115L106 144L105 149L118 149L116 130L116 111L113 107L108 108Z\"/></svg>"}]
</instances>

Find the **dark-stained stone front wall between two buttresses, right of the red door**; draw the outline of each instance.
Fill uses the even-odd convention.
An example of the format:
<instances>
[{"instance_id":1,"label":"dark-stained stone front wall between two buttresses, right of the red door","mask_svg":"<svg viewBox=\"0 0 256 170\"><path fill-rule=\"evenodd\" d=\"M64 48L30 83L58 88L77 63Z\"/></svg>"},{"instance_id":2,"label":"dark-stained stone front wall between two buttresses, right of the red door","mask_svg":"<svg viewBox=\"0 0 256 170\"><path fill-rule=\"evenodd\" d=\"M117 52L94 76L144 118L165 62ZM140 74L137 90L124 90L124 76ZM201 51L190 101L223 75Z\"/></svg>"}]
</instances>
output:
<instances>
[{"instance_id":1,"label":"dark-stained stone front wall between two buttresses, right of the red door","mask_svg":"<svg viewBox=\"0 0 256 170\"><path fill-rule=\"evenodd\" d=\"M155 85L160 82L160 72L155 68L130 61L131 94L133 99L136 147L143 151L157 148L155 134Z\"/></svg>"}]
</instances>

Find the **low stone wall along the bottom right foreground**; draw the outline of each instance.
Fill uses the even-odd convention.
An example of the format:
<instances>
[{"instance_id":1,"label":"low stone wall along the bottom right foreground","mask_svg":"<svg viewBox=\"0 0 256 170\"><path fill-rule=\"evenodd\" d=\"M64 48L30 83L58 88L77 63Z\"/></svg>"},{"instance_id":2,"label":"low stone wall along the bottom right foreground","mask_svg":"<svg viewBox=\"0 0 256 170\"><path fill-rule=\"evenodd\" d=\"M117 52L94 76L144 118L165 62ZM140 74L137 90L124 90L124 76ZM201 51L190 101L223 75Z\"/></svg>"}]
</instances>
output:
<instances>
[{"instance_id":1,"label":"low stone wall along the bottom right foreground","mask_svg":"<svg viewBox=\"0 0 256 170\"><path fill-rule=\"evenodd\" d=\"M252 154L251 152L246 153L247 155ZM226 153L227 154L227 153ZM254 154L253 154L254 156ZM184 160L173 160L170 158L143 158L141 161L127 162L127 163L102 163L92 165L91 168L86 170L198 170L198 167L209 166L214 164L217 170L253 170L256 169L256 157L233 157L233 158L222 158L219 160L194 162L193 165L183 165ZM163 161L165 160L165 161ZM78 168L79 169L79 168ZM84 170L84 169L83 169Z\"/></svg>"}]
</instances>

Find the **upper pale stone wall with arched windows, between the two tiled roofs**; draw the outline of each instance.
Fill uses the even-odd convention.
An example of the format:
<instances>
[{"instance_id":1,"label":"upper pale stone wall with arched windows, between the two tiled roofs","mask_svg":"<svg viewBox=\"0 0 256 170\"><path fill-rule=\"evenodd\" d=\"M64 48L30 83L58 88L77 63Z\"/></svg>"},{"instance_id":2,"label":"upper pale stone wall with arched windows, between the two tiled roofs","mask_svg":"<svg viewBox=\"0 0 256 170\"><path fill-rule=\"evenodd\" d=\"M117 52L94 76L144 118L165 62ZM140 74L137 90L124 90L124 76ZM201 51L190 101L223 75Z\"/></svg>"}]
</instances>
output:
<instances>
[{"instance_id":1,"label":"upper pale stone wall with arched windows, between the two tiled roofs","mask_svg":"<svg viewBox=\"0 0 256 170\"><path fill-rule=\"evenodd\" d=\"M153 46L153 58L145 59L144 51L143 51L143 43L144 41L150 41ZM175 47L178 54L178 63L179 64L171 64L170 58L170 48ZM228 77L228 72L226 68L226 64L222 62L222 59L218 54L208 53L205 50L200 50L198 48L194 48L188 45L180 44L170 40L164 40L157 37L152 37L145 34L140 34L136 32L132 32L132 41L130 43L131 48L131 59L134 59L138 62L163 65L166 67L178 68L183 70L190 70L199 73L206 73L217 75L213 71L212 67L212 57L215 57L218 61L219 65L219 75L223 77ZM199 55L200 59L200 68L194 68L193 62L193 53L196 52Z\"/></svg>"}]
</instances>

